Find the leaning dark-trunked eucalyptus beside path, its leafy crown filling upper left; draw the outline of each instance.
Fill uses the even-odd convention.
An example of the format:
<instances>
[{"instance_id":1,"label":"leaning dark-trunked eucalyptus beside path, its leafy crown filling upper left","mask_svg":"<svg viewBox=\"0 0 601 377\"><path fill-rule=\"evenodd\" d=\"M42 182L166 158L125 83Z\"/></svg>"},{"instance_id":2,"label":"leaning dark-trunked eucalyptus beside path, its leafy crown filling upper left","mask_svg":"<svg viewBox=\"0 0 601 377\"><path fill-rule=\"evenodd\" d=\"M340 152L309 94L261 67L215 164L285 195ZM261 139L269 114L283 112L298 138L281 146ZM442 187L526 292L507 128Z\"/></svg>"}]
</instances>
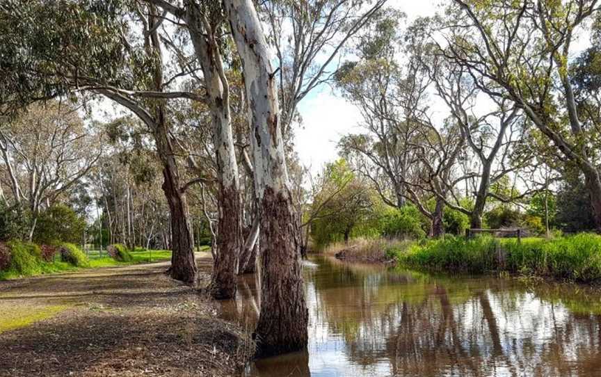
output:
<instances>
[{"instance_id":1,"label":"leaning dark-trunked eucalyptus beside path, its leafy crown filling upper left","mask_svg":"<svg viewBox=\"0 0 601 377\"><path fill-rule=\"evenodd\" d=\"M163 191L170 204L173 233L170 275L185 282L195 280L182 190L188 185L181 182L166 99L200 97L188 91L168 91L174 80L163 78L159 38L163 18L153 9L141 13L116 0L13 1L0 13L8 28L2 45L12 54L6 55L10 56L6 65L10 83L0 84L3 109L86 90L134 113L154 136L163 165ZM23 22L24 18L29 22ZM54 28L45 28L48 20ZM131 31L130 26L141 27L141 33Z\"/></svg>"}]
</instances>

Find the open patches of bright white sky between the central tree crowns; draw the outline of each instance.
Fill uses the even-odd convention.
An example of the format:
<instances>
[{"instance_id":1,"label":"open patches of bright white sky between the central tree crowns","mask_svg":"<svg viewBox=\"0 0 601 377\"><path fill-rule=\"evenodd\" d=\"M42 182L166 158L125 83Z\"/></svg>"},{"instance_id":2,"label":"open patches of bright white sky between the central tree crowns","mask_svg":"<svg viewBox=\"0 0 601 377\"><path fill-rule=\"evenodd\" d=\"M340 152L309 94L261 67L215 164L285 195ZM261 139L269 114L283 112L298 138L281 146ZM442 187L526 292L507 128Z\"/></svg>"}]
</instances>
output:
<instances>
[{"instance_id":1,"label":"open patches of bright white sky between the central tree crowns","mask_svg":"<svg viewBox=\"0 0 601 377\"><path fill-rule=\"evenodd\" d=\"M439 3L440 0L390 0L388 5L402 10L407 21L412 22L416 17L433 15ZM358 109L327 85L307 95L298 104L298 111L303 125L296 129L296 152L312 173L318 173L324 163L337 158L340 136L361 131Z\"/></svg>"}]
</instances>

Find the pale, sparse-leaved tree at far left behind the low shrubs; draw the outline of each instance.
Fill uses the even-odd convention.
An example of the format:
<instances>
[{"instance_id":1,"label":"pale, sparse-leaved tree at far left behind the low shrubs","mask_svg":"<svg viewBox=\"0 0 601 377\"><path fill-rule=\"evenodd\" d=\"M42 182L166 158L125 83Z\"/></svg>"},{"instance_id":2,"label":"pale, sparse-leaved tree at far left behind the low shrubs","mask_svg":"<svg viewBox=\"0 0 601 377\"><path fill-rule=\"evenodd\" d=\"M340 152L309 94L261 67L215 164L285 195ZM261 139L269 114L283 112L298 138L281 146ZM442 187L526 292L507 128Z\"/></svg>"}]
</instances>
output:
<instances>
[{"instance_id":1,"label":"pale, sparse-leaved tree at far left behind the low shrubs","mask_svg":"<svg viewBox=\"0 0 601 377\"><path fill-rule=\"evenodd\" d=\"M13 203L31 214L29 239L43 209L73 189L102 154L99 132L86 129L78 108L52 100L32 104L0 125L0 152Z\"/></svg>"}]
</instances>

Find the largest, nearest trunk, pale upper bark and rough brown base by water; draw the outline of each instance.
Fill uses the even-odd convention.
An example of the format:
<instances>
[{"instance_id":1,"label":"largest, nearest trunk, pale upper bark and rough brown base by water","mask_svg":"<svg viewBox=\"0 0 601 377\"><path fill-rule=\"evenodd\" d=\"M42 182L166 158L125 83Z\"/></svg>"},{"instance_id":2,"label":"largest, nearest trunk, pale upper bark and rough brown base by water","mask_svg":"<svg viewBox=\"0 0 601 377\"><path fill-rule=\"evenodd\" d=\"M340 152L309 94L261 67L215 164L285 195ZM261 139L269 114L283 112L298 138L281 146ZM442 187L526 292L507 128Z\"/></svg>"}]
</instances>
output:
<instances>
[{"instance_id":1,"label":"largest, nearest trunk, pale upper bark and rough brown base by water","mask_svg":"<svg viewBox=\"0 0 601 377\"><path fill-rule=\"evenodd\" d=\"M261 313L257 356L298 351L307 346L307 304L300 264L278 88L269 47L251 0L225 0L234 41L243 62L255 190L259 202Z\"/></svg>"}]
</instances>

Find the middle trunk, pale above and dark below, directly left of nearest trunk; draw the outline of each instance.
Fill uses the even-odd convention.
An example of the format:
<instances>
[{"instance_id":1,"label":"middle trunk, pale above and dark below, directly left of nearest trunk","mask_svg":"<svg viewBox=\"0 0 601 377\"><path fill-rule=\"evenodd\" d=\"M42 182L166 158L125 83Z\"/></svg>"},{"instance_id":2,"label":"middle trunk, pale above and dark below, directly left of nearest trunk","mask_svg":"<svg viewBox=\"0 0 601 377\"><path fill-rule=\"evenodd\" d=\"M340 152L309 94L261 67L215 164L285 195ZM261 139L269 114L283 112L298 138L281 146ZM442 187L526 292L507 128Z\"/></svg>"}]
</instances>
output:
<instances>
[{"instance_id":1,"label":"middle trunk, pale above and dark below, directly left of nearest trunk","mask_svg":"<svg viewBox=\"0 0 601 377\"><path fill-rule=\"evenodd\" d=\"M230 88L215 31L210 29L211 23L195 3L188 3L186 17L194 51L205 78L217 161L219 218L209 290L214 298L233 298L236 295L238 258L243 240L240 184L230 115Z\"/></svg>"}]
</instances>

